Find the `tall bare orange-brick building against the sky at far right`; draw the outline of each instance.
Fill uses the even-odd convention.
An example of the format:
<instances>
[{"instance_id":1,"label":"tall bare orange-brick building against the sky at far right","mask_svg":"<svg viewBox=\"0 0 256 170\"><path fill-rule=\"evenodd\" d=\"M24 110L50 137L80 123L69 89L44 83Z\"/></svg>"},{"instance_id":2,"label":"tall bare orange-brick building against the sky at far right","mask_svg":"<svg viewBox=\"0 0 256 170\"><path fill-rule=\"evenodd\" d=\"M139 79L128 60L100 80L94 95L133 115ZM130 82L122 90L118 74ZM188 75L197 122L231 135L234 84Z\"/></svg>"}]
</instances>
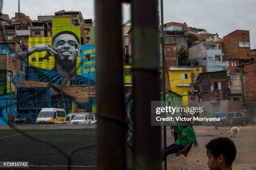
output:
<instances>
[{"instance_id":1,"label":"tall bare orange-brick building against the sky at far right","mask_svg":"<svg viewBox=\"0 0 256 170\"><path fill-rule=\"evenodd\" d=\"M230 75L237 66L251 61L250 34L248 30L236 30L223 37L224 57L229 60Z\"/></svg>"}]
</instances>

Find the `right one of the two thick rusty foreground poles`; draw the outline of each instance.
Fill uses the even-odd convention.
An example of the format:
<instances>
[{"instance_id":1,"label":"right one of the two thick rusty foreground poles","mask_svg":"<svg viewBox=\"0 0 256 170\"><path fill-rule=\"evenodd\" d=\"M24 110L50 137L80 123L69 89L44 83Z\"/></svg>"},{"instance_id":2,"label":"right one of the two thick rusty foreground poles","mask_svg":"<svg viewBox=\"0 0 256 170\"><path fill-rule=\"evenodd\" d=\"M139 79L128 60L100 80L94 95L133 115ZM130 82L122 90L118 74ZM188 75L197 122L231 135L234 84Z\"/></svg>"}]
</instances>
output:
<instances>
[{"instance_id":1,"label":"right one of the two thick rusty foreground poles","mask_svg":"<svg viewBox=\"0 0 256 170\"><path fill-rule=\"evenodd\" d=\"M151 101L160 101L157 0L131 0L135 170L161 169L161 127L151 126Z\"/></svg>"}]
</instances>

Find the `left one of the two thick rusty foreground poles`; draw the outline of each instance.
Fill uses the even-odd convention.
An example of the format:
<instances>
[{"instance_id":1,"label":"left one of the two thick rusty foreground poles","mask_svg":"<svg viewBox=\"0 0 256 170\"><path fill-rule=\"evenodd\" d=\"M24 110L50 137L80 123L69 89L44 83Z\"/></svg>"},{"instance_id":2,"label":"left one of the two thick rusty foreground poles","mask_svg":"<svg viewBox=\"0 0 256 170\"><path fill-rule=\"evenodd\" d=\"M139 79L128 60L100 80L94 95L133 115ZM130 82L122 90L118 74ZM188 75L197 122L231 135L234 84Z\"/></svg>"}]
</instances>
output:
<instances>
[{"instance_id":1,"label":"left one of the two thick rusty foreground poles","mask_svg":"<svg viewBox=\"0 0 256 170\"><path fill-rule=\"evenodd\" d=\"M126 168L120 0L95 0L97 48L97 163L100 170ZM112 118L111 118L112 117Z\"/></svg>"}]
</instances>

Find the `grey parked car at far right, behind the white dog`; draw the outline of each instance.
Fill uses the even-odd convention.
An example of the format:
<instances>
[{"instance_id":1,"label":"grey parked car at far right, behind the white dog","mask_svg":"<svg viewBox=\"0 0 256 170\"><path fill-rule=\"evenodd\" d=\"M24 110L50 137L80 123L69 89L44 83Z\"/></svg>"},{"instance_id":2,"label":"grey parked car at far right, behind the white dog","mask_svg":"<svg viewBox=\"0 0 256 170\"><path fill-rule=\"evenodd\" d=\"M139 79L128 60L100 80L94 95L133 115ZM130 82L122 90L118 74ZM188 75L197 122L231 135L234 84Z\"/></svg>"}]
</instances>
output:
<instances>
[{"instance_id":1,"label":"grey parked car at far right, behind the white dog","mask_svg":"<svg viewBox=\"0 0 256 170\"><path fill-rule=\"evenodd\" d=\"M230 125L230 120L227 118L228 115L225 115L224 117L220 117L220 126ZM230 116L232 119L232 126L233 125L241 125L246 126L249 122L248 115L246 115L244 112L230 112Z\"/></svg>"}]
</instances>

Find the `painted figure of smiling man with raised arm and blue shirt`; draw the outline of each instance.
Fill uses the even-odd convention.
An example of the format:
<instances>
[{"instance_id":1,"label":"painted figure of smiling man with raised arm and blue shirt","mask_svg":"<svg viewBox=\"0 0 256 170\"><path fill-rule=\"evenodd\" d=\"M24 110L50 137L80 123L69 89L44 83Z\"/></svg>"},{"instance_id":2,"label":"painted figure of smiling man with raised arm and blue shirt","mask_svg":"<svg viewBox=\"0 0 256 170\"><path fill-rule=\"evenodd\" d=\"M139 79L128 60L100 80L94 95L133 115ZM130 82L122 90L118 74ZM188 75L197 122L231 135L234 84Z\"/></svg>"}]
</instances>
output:
<instances>
[{"instance_id":1,"label":"painted figure of smiling man with raised arm and blue shirt","mask_svg":"<svg viewBox=\"0 0 256 170\"><path fill-rule=\"evenodd\" d=\"M41 82L48 82L59 84L63 78L71 80L71 84L75 85L88 85L88 78L78 75L77 70L77 57L81 56L79 50L79 37L74 32L62 31L58 32L52 38L52 47L49 44L39 44L29 47L28 51L18 52L13 54L20 60L24 60L34 52L46 51L47 54L43 60L50 56L54 56L54 68L46 70L39 67L26 68L26 80L34 79L34 73L38 75L37 79ZM90 85L95 82L90 80Z\"/></svg>"}]
</instances>

